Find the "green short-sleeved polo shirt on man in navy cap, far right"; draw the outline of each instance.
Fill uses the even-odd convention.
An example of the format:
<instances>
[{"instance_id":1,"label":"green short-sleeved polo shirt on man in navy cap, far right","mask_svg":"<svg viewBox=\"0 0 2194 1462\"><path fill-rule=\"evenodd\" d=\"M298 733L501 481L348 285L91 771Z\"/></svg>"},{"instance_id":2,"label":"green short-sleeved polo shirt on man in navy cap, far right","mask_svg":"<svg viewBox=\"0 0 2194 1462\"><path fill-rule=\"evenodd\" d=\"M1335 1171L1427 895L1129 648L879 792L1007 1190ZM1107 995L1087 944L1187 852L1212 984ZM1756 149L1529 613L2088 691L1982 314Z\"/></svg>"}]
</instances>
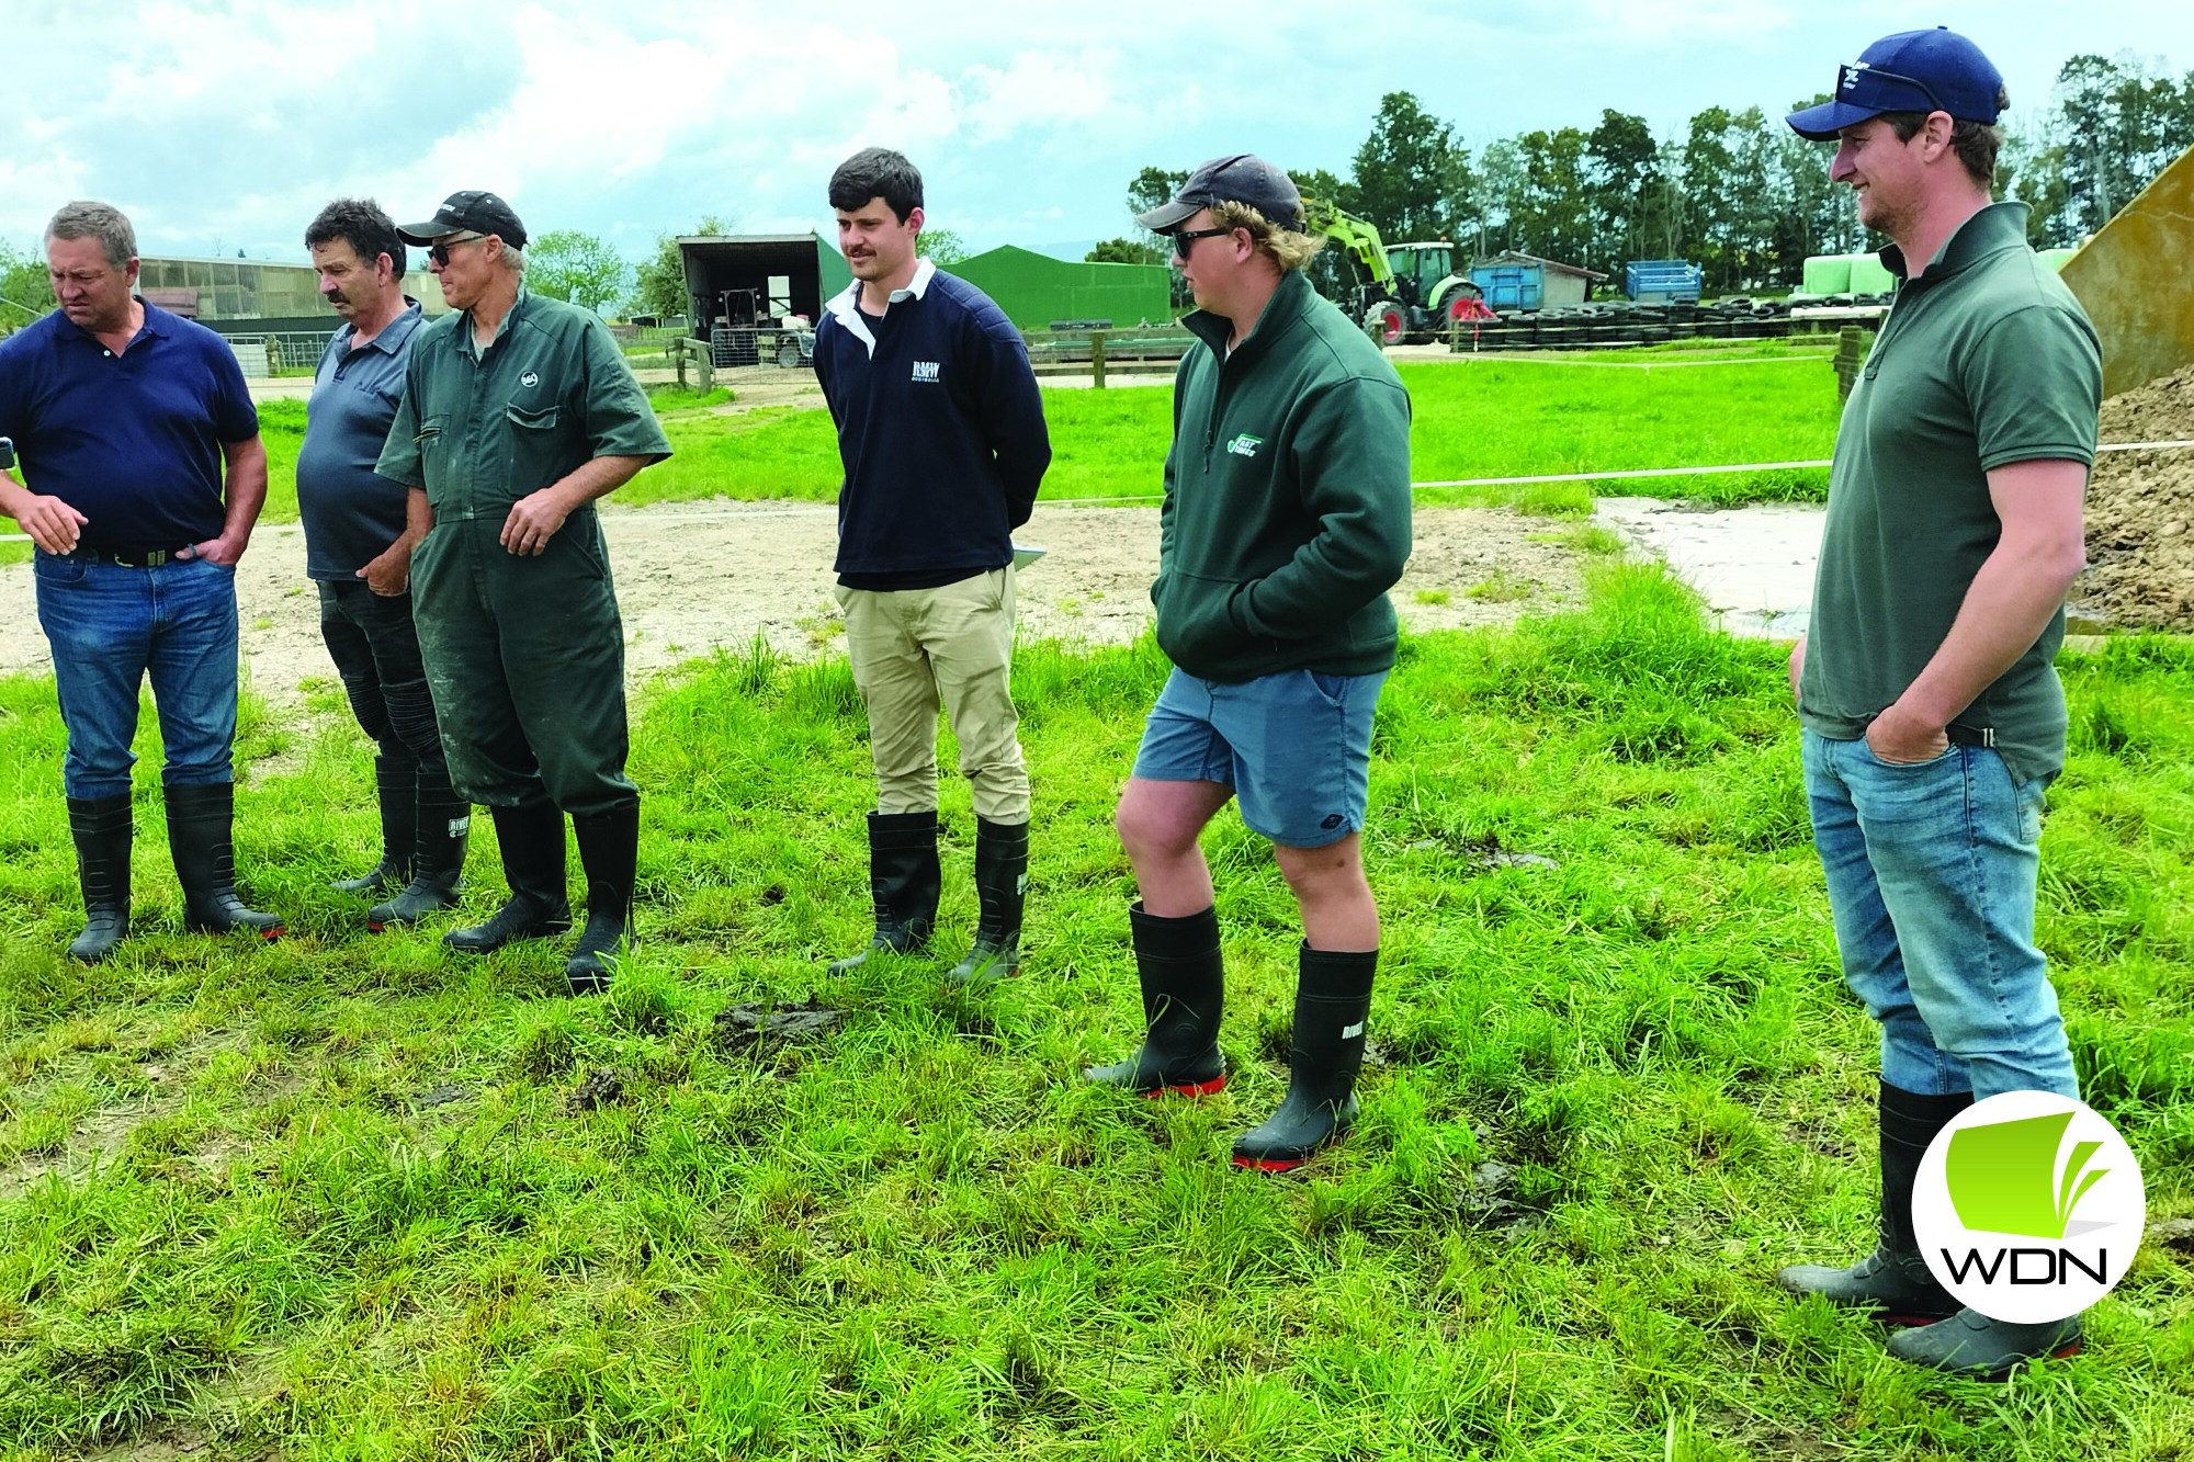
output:
<instances>
[{"instance_id":1,"label":"green short-sleeved polo shirt on man in navy cap, far right","mask_svg":"<svg viewBox=\"0 0 2194 1462\"><path fill-rule=\"evenodd\" d=\"M1856 740L1950 632L2003 533L1988 472L2016 461L2093 465L2102 351L2080 301L2027 246L2027 206L1990 204L1902 281L1836 428L1799 716ZM2040 639L1957 720L2012 777L2065 766L2060 608Z\"/></svg>"}]
</instances>

